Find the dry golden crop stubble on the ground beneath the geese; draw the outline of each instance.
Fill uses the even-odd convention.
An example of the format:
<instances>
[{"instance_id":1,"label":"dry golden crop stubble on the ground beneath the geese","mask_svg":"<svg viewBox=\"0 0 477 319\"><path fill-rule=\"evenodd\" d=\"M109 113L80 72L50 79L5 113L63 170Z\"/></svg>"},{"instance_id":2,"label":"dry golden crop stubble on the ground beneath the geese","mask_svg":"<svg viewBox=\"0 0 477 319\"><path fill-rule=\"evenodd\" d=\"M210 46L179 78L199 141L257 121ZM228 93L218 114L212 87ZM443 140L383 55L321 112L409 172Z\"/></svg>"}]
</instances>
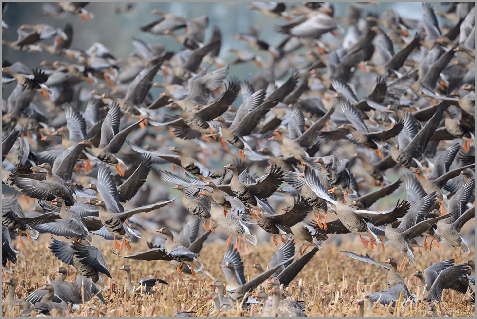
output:
<instances>
[{"instance_id":1,"label":"dry golden crop stubble on the ground beneath the geese","mask_svg":"<svg viewBox=\"0 0 477 319\"><path fill-rule=\"evenodd\" d=\"M348 239L350 238L350 239ZM356 239L356 238L355 238ZM209 239L210 240L210 239ZM325 242L323 248L313 257L311 262L302 270L295 280L288 287L290 299L302 300L306 304L308 316L357 316L358 306L353 302L363 297L367 293L379 291L387 288L387 270L365 264L345 256L339 250L349 250L359 254L370 254L375 260L384 262L389 256L400 259L392 247L385 246L383 252L378 247L373 252L367 251L357 239L346 237L339 247L335 247L331 242ZM53 256L48 249L49 237L42 235L35 243L25 245L21 249L24 257L18 256L18 263L12 269L17 277L16 298L24 298L30 292L46 283L46 278L54 277L53 270L61 266L61 262ZM28 242L27 242L28 243ZM72 316L161 316L175 315L177 311L196 311L195 316L208 316L213 310L213 305L208 304L210 300L204 297L210 288L207 284L213 278L219 278L225 282L225 276L221 271L221 262L226 247L219 242L206 242L199 258L205 265L205 273L197 274L194 279L191 275L182 274L178 276L176 269L172 268L168 262L155 261L131 261L126 260L109 252L111 242L95 240L95 244L102 250L108 263L113 279L103 275L105 286L108 288L103 292L108 301L108 305L103 305L98 299L93 299L82 306L79 311L71 312ZM16 243L17 245L17 243ZM133 245L136 251L147 249L144 243ZM250 255L243 256L245 265L245 275L254 277L257 275L256 269L249 268L255 262L268 263L276 251L273 245L260 245L251 247ZM123 255L131 252L123 251ZM411 293L416 293L418 280L412 276L415 269L425 269L431 263L449 259L452 256L452 249L447 244L442 244L440 249L433 248L432 252L417 253L417 268L408 266L402 273ZM471 248L469 256L463 256L464 261L474 258L474 247ZM158 285L153 296L129 295L123 289L126 273L117 270L121 265L129 264L132 269L132 280L142 277L159 277L169 282L169 285ZM75 272L73 267L67 266ZM7 274L4 277L10 278ZM4 278L4 280L6 279ZM74 277L73 277L74 278ZM72 280L73 278L68 278ZM8 288L3 284L3 296L8 292ZM445 290L442 302L437 305L439 315L445 316L474 316L475 304L465 301L466 296L454 291ZM94 313L89 310L94 306ZM376 316L427 316L428 304L421 303L416 307L408 305L398 305L396 307L385 307L377 305L374 308ZM251 312L242 311L238 315L248 316L257 313L257 306ZM2 313L5 316L15 316L17 309L10 313ZM219 316L235 315L235 313L220 313Z\"/></svg>"}]
</instances>

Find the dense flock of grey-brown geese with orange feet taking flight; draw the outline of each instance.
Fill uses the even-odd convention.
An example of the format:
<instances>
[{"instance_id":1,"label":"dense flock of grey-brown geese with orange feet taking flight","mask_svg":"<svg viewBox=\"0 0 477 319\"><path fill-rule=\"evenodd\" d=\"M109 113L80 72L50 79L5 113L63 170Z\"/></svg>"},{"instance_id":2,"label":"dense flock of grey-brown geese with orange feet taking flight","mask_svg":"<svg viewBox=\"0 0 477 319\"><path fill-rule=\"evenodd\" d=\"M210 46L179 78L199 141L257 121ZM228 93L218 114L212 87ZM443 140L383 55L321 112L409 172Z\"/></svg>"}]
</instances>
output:
<instances>
[{"instance_id":1,"label":"dense flock of grey-brown geese with orange feet taking flight","mask_svg":"<svg viewBox=\"0 0 477 319\"><path fill-rule=\"evenodd\" d=\"M44 12L87 21L94 13L86 4L45 4ZM344 252L389 270L389 289L356 301L361 315L363 304L371 309L378 300L440 302L444 289L474 301L475 264L462 263L474 244L460 231L475 217L475 7L447 5L435 12L423 3L422 19L413 20L392 8L378 16L364 4L337 17L319 2L254 3L249 9L275 18L284 41L274 48L253 27L236 35L254 50L228 49L237 55L230 64L257 65L246 79L228 73L219 27L206 40L206 16L154 10L159 18L132 39L139 54L126 59L101 43L73 48L70 24L24 24L18 39L7 41L3 23L3 50L51 53L33 70L2 61L3 87L16 85L2 99L2 190L22 194L2 197L2 266L13 273L5 275L4 313L66 314L93 296L107 304L102 275L112 276L108 255L93 244L100 236L114 243L108 254L130 265L168 261L178 276L196 277L208 266L202 246L218 230L229 235L221 265L227 284L216 279L203 296L213 301L213 314L255 303L263 315L306 316L306 304L288 300L283 288L332 234L348 233L370 251L387 244L400 256L381 264ZM173 36L183 50L147 44L143 33ZM330 34L337 38L324 40ZM154 99L152 87L164 92ZM381 200L403 183L405 198ZM369 210L378 201L387 210ZM252 265L259 274L246 281L240 253L267 245L265 232L268 245L283 244L268 267ZM22 236L37 245L40 233L52 234L48 247L65 266L19 300L12 265L22 249L14 237L21 247ZM406 260L416 265L422 237L427 254L443 242L454 254L415 272L416 296L399 271ZM150 250L122 252L137 239ZM73 269L79 275L67 281ZM130 293L167 285L160 278L133 285L134 268L120 270Z\"/></svg>"}]
</instances>

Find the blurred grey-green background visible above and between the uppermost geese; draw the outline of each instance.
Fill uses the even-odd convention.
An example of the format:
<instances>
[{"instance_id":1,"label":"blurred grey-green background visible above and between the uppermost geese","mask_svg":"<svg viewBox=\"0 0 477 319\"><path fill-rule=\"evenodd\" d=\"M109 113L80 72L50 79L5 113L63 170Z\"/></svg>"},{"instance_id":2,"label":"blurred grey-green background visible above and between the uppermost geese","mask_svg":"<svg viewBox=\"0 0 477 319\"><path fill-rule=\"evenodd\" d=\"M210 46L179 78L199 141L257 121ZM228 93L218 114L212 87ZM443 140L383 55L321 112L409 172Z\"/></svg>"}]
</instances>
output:
<instances>
[{"instance_id":1,"label":"blurred grey-green background visible above and between the uppermost geese","mask_svg":"<svg viewBox=\"0 0 477 319\"><path fill-rule=\"evenodd\" d=\"M222 31L222 50L220 58L231 62L236 55L227 52L227 48L238 50L250 50L260 55L265 61L269 61L271 56L264 51L257 51L249 48L245 43L234 40L233 34L246 34L250 26L254 26L260 31L260 38L268 42L271 46L277 47L281 41L286 38L285 34L279 33L276 28L279 25L287 23L285 19L274 19L267 17L257 10L248 10L247 6L251 3L198 3L198 2L156 2L156 3L90 3L85 9L94 14L90 21L82 21L79 17L65 15L62 20L55 19L48 14L43 13L44 6L58 7L55 3L7 3L3 12L3 21L8 24L2 34L2 39L15 41L18 38L17 29L22 24L46 23L54 27L65 27L66 23L73 25L72 49L88 49L94 42L104 44L116 58L128 58L129 53L134 52L132 37L137 37L149 44L162 43L166 51L178 52L182 46L170 35L154 36L142 32L140 28L145 26L160 16L151 14L153 9L159 9L166 13L175 13L187 19L207 15L209 17L209 27L206 31L205 41L210 39L212 30L218 26ZM287 11L293 8L293 3L285 2ZM343 17L349 12L352 3L333 3L335 7L335 16ZM439 11L445 9L440 3L432 4L434 9ZM126 11L126 8L130 10ZM363 4L362 16L367 13L381 14L387 8L394 8L399 15L406 18L422 18L421 2L415 3L378 3L377 5ZM438 17L440 24L445 23L445 19ZM448 21L447 21L448 22ZM345 24L340 23L344 29ZM178 30L178 35L184 34L184 30ZM341 33L341 38L344 33ZM325 34L322 37L323 42L339 41L331 34ZM50 40L52 41L52 40ZM48 42L48 41L47 41ZM306 49L302 48L301 51ZM300 51L297 51L300 52ZM58 57L54 57L55 59ZM8 60L11 63L22 61L28 67L39 67L43 60L52 59L48 52L28 53L15 51L9 47L2 46L2 60ZM239 64L231 66L229 76L236 75L239 79L249 78L250 75L257 72L257 67L253 63Z\"/></svg>"}]
</instances>

